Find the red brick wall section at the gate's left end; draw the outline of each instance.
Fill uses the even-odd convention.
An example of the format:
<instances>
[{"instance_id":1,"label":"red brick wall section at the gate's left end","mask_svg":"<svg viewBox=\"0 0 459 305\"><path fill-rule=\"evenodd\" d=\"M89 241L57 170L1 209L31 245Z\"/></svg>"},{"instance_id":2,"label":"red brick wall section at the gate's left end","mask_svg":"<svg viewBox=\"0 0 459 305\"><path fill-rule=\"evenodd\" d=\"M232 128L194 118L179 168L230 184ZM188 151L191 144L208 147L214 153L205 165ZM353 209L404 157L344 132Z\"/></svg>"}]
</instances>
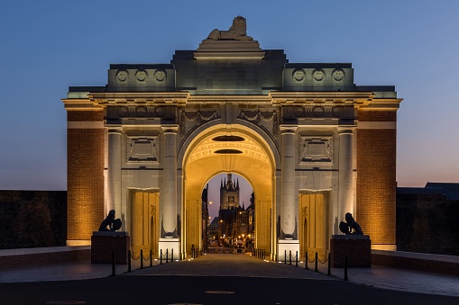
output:
<instances>
[{"instance_id":1,"label":"red brick wall section at the gate's left end","mask_svg":"<svg viewBox=\"0 0 459 305\"><path fill-rule=\"evenodd\" d=\"M68 121L103 121L104 112L68 112ZM104 220L105 130L67 131L68 240L91 239Z\"/></svg>"}]
</instances>

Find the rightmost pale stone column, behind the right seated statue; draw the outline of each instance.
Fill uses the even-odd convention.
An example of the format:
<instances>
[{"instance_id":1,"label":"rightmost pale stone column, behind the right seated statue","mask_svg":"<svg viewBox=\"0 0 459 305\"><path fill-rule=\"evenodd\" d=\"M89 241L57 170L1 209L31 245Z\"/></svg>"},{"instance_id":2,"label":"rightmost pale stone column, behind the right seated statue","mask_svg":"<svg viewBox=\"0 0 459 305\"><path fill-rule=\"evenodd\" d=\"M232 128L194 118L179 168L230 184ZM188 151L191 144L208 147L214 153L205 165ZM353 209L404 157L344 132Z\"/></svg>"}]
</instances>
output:
<instances>
[{"instance_id":1,"label":"rightmost pale stone column, behind the right seated statue","mask_svg":"<svg viewBox=\"0 0 459 305\"><path fill-rule=\"evenodd\" d=\"M339 174L338 174L338 221L335 234L340 232L338 225L344 221L347 212L353 213L353 130L355 127L338 127L339 132Z\"/></svg>"}]
</instances>

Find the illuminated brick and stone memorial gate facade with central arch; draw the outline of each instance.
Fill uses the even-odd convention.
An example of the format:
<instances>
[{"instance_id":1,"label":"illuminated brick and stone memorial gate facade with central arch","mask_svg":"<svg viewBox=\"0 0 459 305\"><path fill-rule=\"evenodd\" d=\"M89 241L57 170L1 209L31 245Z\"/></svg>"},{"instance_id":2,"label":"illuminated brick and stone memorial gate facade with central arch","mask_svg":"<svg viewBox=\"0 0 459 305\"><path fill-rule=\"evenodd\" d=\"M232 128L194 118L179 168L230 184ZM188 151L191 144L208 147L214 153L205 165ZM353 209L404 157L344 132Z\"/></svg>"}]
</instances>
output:
<instances>
[{"instance_id":1,"label":"illuminated brick and stone memorial gate facade with central arch","mask_svg":"<svg viewBox=\"0 0 459 305\"><path fill-rule=\"evenodd\" d=\"M372 247L394 249L394 86L353 67L289 63L256 40L203 40L170 64L115 64L107 85L70 87L68 244L114 209L134 251L203 247L202 191L220 173L255 193L254 247L326 255L352 212Z\"/></svg>"}]
</instances>

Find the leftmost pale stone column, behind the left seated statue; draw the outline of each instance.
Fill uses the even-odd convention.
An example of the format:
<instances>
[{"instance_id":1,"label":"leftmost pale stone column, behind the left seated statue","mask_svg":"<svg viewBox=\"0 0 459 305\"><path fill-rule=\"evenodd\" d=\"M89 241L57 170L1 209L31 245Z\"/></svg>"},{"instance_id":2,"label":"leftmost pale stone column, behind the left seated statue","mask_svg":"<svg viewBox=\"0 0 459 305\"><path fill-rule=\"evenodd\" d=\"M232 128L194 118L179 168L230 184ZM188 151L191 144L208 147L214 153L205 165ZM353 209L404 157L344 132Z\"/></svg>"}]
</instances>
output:
<instances>
[{"instance_id":1,"label":"leftmost pale stone column, behind the left seated statue","mask_svg":"<svg viewBox=\"0 0 459 305\"><path fill-rule=\"evenodd\" d=\"M116 218L121 216L121 130L109 127L107 168L107 210L115 210ZM108 212L106 211L106 212ZM106 216L106 215L104 215Z\"/></svg>"}]
</instances>

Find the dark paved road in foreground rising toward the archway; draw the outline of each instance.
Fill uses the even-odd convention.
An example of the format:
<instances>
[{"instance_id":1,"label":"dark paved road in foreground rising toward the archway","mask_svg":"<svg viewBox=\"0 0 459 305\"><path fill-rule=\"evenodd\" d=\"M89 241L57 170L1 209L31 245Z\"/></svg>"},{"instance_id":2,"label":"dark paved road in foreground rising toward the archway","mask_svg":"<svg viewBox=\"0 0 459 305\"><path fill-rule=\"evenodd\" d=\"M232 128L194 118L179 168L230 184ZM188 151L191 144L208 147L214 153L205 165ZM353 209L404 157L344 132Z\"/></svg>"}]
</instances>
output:
<instances>
[{"instance_id":1,"label":"dark paved road in foreground rising toward the archway","mask_svg":"<svg viewBox=\"0 0 459 305\"><path fill-rule=\"evenodd\" d=\"M252 256L190 261L80 281L0 283L0 304L459 304L459 298L344 282Z\"/></svg>"}]
</instances>

